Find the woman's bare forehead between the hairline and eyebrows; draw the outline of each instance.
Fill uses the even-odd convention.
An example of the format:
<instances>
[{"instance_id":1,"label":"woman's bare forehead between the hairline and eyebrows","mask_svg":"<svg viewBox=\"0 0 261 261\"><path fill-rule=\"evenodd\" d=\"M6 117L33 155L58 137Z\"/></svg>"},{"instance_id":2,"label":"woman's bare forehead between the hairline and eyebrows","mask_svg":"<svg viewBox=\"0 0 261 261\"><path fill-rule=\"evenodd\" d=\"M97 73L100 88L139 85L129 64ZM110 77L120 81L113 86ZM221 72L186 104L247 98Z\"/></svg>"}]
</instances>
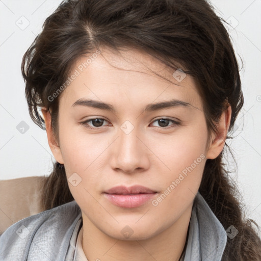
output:
<instances>
[{"instance_id":1,"label":"woman's bare forehead between the hairline and eyebrows","mask_svg":"<svg viewBox=\"0 0 261 261\"><path fill-rule=\"evenodd\" d=\"M94 50L77 59L69 76L73 74L77 76L61 95L66 96L67 101L90 95L110 101L123 96L129 99L140 97L149 102L179 98L201 108L193 77L167 67L143 50L116 52L101 48L100 53Z\"/></svg>"}]
</instances>

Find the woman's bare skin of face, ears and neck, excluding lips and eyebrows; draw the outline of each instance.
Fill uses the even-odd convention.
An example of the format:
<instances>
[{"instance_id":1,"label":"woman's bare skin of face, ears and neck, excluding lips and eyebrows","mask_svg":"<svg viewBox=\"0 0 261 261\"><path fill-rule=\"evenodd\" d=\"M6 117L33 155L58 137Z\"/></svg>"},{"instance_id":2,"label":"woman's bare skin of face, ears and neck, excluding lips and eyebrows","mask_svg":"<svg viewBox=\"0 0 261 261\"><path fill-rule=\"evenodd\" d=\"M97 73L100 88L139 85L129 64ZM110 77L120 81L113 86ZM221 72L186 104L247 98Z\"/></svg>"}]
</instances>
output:
<instances>
[{"instance_id":1,"label":"woman's bare skin of face, ears and neck, excluding lips and eyebrows","mask_svg":"<svg viewBox=\"0 0 261 261\"><path fill-rule=\"evenodd\" d=\"M109 48L101 51L59 96L59 141L50 114L42 110L56 160L64 164L67 178L73 173L82 178L76 187L68 185L82 211L83 250L89 261L178 260L205 162L224 147L231 108L223 112L218 133L208 144L202 100L190 75L176 81L172 69L142 50L126 49L121 55ZM86 59L79 58L75 68ZM80 98L109 103L116 112L72 106ZM144 112L148 103L172 98L191 106ZM100 126L93 121L80 124L95 118L105 119L98 130L88 128ZM181 124L156 121L162 118ZM129 134L120 128L126 120L134 127ZM200 155L204 159L158 205L149 200L136 208L122 208L103 194L115 186L142 185L158 192L155 200ZM129 238L121 232L125 226L133 231Z\"/></svg>"}]
</instances>

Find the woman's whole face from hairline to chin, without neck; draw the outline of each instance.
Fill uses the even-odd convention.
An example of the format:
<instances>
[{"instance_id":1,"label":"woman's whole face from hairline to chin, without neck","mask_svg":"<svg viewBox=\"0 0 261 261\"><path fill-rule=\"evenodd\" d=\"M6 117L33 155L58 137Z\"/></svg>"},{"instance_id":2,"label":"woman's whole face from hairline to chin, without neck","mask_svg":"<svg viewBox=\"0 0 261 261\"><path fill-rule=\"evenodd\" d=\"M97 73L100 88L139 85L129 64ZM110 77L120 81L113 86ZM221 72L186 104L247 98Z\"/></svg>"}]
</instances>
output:
<instances>
[{"instance_id":1,"label":"woman's whole face from hairline to chin, without neck","mask_svg":"<svg viewBox=\"0 0 261 261\"><path fill-rule=\"evenodd\" d=\"M53 153L84 223L148 239L176 224L198 191L211 153L201 97L190 75L140 50L103 48L85 68L86 60L59 97Z\"/></svg>"}]
</instances>

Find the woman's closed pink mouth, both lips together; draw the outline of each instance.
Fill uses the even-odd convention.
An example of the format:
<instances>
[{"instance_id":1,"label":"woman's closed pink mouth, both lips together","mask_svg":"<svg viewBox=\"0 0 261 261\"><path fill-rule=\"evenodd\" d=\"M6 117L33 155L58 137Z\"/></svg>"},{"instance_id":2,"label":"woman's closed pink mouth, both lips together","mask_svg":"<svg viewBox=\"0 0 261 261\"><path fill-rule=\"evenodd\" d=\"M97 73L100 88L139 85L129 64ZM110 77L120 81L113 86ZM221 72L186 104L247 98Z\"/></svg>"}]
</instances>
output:
<instances>
[{"instance_id":1,"label":"woman's closed pink mouth, both lips together","mask_svg":"<svg viewBox=\"0 0 261 261\"><path fill-rule=\"evenodd\" d=\"M118 186L104 192L105 197L114 205L133 208L146 203L158 192L143 186Z\"/></svg>"}]
</instances>

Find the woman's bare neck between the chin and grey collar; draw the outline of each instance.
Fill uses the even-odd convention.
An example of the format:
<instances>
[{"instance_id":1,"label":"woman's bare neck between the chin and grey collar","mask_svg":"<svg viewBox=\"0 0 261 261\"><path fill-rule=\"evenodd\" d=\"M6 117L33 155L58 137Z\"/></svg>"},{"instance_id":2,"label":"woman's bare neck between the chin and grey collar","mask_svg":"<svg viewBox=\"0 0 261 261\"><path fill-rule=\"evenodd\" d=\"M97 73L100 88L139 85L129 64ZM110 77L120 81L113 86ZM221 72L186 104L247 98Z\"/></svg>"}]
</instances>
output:
<instances>
[{"instance_id":1,"label":"woman's bare neck between the chin and grey collar","mask_svg":"<svg viewBox=\"0 0 261 261\"><path fill-rule=\"evenodd\" d=\"M192 205L160 233L143 240L108 236L83 214L83 250L88 261L178 261L186 247Z\"/></svg>"}]
</instances>

